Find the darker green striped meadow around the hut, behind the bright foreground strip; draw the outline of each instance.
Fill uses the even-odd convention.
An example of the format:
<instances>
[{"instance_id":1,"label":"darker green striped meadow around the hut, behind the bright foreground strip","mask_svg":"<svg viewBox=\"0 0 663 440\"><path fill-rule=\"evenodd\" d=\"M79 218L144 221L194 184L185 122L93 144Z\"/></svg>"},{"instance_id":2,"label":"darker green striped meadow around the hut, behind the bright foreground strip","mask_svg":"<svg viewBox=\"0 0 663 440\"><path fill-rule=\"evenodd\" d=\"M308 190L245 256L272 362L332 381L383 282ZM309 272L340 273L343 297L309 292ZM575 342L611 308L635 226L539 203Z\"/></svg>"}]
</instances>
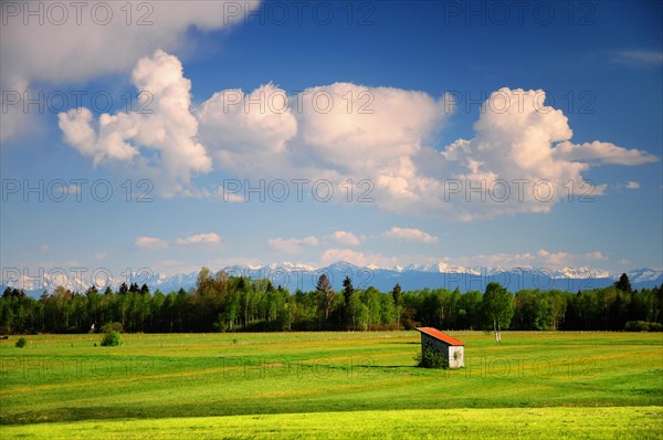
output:
<instances>
[{"instance_id":1,"label":"darker green striped meadow around the hut, behind the bright foreground strip","mask_svg":"<svg viewBox=\"0 0 663 440\"><path fill-rule=\"evenodd\" d=\"M466 368L414 367L415 332L28 336L0 343L0 423L255 413L663 406L663 335L452 332ZM15 339L15 338L13 338Z\"/></svg>"}]
</instances>

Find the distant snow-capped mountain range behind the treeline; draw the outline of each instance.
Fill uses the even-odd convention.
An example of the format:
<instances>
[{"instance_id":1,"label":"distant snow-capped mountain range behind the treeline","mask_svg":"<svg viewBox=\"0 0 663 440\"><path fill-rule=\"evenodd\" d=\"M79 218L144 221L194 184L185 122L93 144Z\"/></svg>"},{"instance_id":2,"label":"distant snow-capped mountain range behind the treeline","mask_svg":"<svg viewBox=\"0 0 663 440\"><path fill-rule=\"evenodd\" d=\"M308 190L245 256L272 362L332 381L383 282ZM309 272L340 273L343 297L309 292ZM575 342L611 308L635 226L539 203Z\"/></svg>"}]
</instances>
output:
<instances>
[{"instance_id":1,"label":"distant snow-capped mountain range behind the treeline","mask_svg":"<svg viewBox=\"0 0 663 440\"><path fill-rule=\"evenodd\" d=\"M290 262L274 263L269 265L231 265L220 269L230 275L243 275L252 279L269 279L277 286L282 285L294 293L297 289L302 291L315 290L319 275L326 273L335 290L343 289L343 280L349 276L355 289L368 289L375 286L381 292L389 292L397 283L403 291L420 289L445 287L448 290L459 289L461 292L477 290L483 292L490 282L498 282L512 292L522 289L540 289L577 292L597 287L606 287L614 283L621 273L610 274L606 271L588 266L561 268L557 270L524 268L450 268L438 265L409 265L407 268L377 268L358 266L345 261L329 264L325 268L312 268ZM4 275L4 274L3 274ZM633 289L651 289L663 284L663 271L644 268L628 272ZM4 275L7 276L7 275ZM84 292L90 281L70 277L65 286L70 290ZM151 275L136 274L130 282L139 285L144 283L150 287L150 292L159 289L164 293L178 291L180 287L189 290L196 285L198 272L179 274ZM113 287L126 280L116 280ZM39 297L44 289L52 291L56 285L54 280L45 274L42 280L21 280L13 277L2 280L2 290L7 285L25 290L25 293ZM27 289L28 287L28 289Z\"/></svg>"}]
</instances>

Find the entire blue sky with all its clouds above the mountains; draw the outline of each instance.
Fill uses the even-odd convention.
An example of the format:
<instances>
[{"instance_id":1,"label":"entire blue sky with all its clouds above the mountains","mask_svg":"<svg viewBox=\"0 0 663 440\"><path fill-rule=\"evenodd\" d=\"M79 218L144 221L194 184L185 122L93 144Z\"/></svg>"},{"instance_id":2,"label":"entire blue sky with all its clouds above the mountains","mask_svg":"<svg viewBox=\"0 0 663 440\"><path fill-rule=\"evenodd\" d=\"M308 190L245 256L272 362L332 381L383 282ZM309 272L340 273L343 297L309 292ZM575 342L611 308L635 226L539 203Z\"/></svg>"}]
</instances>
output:
<instances>
[{"instance_id":1,"label":"entire blue sky with all its clouds above the mountains","mask_svg":"<svg viewBox=\"0 0 663 440\"><path fill-rule=\"evenodd\" d=\"M662 270L662 15L654 1L3 2L3 279Z\"/></svg>"}]
</instances>

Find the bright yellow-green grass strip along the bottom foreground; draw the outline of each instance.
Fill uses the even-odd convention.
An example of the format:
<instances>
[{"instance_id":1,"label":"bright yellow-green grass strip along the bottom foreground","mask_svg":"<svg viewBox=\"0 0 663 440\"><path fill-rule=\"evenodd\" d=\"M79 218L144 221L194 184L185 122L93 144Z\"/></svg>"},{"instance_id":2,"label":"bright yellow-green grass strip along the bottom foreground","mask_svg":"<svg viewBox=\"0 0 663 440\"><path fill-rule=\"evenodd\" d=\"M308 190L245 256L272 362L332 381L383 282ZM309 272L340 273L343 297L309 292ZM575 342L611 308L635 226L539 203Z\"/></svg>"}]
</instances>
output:
<instances>
[{"instance_id":1,"label":"bright yellow-green grass strip along the bottom foreground","mask_svg":"<svg viewBox=\"0 0 663 440\"><path fill-rule=\"evenodd\" d=\"M661 439L661 407L406 409L90 420L2 427L2 439Z\"/></svg>"}]
</instances>

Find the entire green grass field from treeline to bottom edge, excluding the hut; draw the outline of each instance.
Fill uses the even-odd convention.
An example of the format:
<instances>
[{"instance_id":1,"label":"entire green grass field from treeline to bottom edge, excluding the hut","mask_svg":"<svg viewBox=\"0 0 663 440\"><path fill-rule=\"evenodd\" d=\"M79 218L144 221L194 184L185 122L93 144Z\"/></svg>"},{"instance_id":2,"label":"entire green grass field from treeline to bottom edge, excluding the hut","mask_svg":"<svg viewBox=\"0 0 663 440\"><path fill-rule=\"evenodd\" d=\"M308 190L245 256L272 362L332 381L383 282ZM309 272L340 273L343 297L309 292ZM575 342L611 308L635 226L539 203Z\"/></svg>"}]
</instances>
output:
<instances>
[{"instance_id":1,"label":"entire green grass field from treeline to bottom edge, excluding the hut","mask_svg":"<svg viewBox=\"0 0 663 440\"><path fill-rule=\"evenodd\" d=\"M663 438L663 335L415 332L29 336L0 344L8 438Z\"/></svg>"}]
</instances>

